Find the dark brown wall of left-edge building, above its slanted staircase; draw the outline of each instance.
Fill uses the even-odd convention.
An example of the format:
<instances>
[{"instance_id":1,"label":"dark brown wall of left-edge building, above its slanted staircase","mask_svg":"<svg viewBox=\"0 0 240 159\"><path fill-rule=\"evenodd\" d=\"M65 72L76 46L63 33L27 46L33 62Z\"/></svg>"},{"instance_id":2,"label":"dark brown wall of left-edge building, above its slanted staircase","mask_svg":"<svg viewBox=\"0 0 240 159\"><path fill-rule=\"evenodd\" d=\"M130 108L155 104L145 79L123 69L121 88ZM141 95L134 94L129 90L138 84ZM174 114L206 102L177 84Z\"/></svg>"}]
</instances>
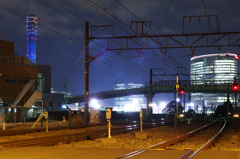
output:
<instances>
[{"instance_id":1,"label":"dark brown wall of left-edge building, above its slanted staircase","mask_svg":"<svg viewBox=\"0 0 240 159\"><path fill-rule=\"evenodd\" d=\"M38 67L26 57L14 55L14 43L0 40L0 97L10 106L31 79L37 79Z\"/></svg>"}]
</instances>

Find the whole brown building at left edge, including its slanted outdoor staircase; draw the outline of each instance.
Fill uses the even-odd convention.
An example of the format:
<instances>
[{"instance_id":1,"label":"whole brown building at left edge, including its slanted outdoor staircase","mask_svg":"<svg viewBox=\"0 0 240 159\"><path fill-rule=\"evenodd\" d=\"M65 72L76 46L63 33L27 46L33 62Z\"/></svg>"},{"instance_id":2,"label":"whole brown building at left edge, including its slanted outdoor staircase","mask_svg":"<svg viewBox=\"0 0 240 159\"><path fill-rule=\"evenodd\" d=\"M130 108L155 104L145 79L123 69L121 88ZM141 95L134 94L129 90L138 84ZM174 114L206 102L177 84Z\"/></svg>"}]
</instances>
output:
<instances>
[{"instance_id":1,"label":"whole brown building at left edge, including its slanted outdoor staircase","mask_svg":"<svg viewBox=\"0 0 240 159\"><path fill-rule=\"evenodd\" d=\"M42 99L42 91L38 89L38 67L24 56L15 56L13 42L0 40L0 46L1 106L14 108L11 112L14 111L15 120L20 121L21 107L30 107L37 99ZM3 111L1 109L1 114Z\"/></svg>"}]
</instances>

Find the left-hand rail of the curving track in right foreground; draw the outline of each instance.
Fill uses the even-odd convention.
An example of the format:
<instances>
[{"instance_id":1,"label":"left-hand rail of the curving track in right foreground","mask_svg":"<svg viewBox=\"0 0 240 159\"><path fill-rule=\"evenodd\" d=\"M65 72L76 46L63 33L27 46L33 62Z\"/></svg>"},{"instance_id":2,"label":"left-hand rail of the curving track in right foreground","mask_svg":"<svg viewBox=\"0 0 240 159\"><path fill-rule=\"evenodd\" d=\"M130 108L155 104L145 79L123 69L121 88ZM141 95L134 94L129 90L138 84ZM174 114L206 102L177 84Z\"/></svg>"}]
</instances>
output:
<instances>
[{"instance_id":1,"label":"left-hand rail of the curving track in right foreground","mask_svg":"<svg viewBox=\"0 0 240 159\"><path fill-rule=\"evenodd\" d=\"M171 144L174 144L174 143L177 143L178 141L183 140L183 139L185 139L185 138L187 138L187 137L189 137L189 136L191 136L191 135L196 134L196 133L199 132L200 130L203 130L203 129L205 129L205 128L207 128L207 127L215 124L217 121L218 121L218 119L215 120L215 121L213 121L213 122L211 122L211 123L209 123L209 124L207 124L207 125L204 125L204 126L202 126L202 127L200 127L200 128L197 128L197 129L195 129L195 130L193 130L193 131L190 131L190 132L188 132L188 133L186 133L186 134L184 134L184 135L179 135L179 136L177 136L177 137L175 137L175 138L173 138L173 139L169 139L169 140L166 140L166 141L157 143L157 144L152 145L152 146L149 146L149 147L147 147L147 148L143 148L143 149L136 150L136 151L134 151L134 152L128 153L128 154L123 155L123 156L121 156L121 157L118 157L118 158L116 158L116 159L127 159L127 158L130 158L130 157L139 155L139 154L141 154L141 153L143 153L143 152L146 152L146 151L148 151L148 150L152 150L152 149L156 149L156 148L164 148L164 147L167 147L167 146L169 146L169 145L171 145ZM191 154L191 153L190 153L190 154Z\"/></svg>"}]
</instances>

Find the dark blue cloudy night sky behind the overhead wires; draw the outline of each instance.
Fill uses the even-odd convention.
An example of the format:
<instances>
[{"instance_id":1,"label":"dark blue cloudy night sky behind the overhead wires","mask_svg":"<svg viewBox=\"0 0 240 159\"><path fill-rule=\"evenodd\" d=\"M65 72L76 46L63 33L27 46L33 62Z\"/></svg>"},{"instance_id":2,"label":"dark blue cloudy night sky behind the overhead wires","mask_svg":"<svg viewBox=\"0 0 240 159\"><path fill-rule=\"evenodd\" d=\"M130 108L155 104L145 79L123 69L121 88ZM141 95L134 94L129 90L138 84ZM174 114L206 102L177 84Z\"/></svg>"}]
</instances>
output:
<instances>
[{"instance_id":1,"label":"dark blue cloudy night sky behind the overhead wires","mask_svg":"<svg viewBox=\"0 0 240 159\"><path fill-rule=\"evenodd\" d=\"M26 56L25 21L31 6L40 19L37 61L51 65L55 90L65 90L67 76L68 90L73 95L84 92L84 21L89 21L90 25L115 23L116 36L130 35L132 32L127 25L139 19L152 21L154 34L180 34L183 16L217 14L221 31L240 30L239 0L0 0L0 33L7 34L7 40L14 41L15 53L20 56ZM104 12L104 16L100 12ZM213 20L201 20L200 23L192 20L185 26L189 33L211 32L214 28ZM97 30L95 35L110 35L108 29L100 31ZM146 31L153 34L149 29ZM91 55L101 52L101 49L90 43ZM195 55L217 51L216 48L197 49ZM225 47L220 52L238 54L239 47ZM182 65L187 68L184 73L189 73L191 57L189 49L171 49L166 54L157 50L143 51L140 57L136 51L107 52L90 64L90 93L112 90L116 83L145 84L149 81L150 68L165 68L167 73L176 73L174 68ZM167 98L167 95L161 98Z\"/></svg>"}]
</instances>

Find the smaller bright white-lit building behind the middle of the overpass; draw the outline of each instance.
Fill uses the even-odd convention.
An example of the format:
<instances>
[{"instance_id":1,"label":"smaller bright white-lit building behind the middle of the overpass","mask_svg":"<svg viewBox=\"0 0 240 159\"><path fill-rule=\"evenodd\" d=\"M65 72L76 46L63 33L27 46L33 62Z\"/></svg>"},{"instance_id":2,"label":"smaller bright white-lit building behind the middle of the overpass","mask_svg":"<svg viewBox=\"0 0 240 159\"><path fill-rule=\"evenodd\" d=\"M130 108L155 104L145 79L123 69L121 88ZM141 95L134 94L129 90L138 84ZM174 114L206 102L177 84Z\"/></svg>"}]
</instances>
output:
<instances>
[{"instance_id":1,"label":"smaller bright white-lit building behind the middle of the overpass","mask_svg":"<svg viewBox=\"0 0 240 159\"><path fill-rule=\"evenodd\" d=\"M143 87L143 84L116 84L115 90L133 89ZM115 98L115 106L118 110L125 112L136 112L146 108L146 99L144 95L131 95Z\"/></svg>"}]
</instances>

